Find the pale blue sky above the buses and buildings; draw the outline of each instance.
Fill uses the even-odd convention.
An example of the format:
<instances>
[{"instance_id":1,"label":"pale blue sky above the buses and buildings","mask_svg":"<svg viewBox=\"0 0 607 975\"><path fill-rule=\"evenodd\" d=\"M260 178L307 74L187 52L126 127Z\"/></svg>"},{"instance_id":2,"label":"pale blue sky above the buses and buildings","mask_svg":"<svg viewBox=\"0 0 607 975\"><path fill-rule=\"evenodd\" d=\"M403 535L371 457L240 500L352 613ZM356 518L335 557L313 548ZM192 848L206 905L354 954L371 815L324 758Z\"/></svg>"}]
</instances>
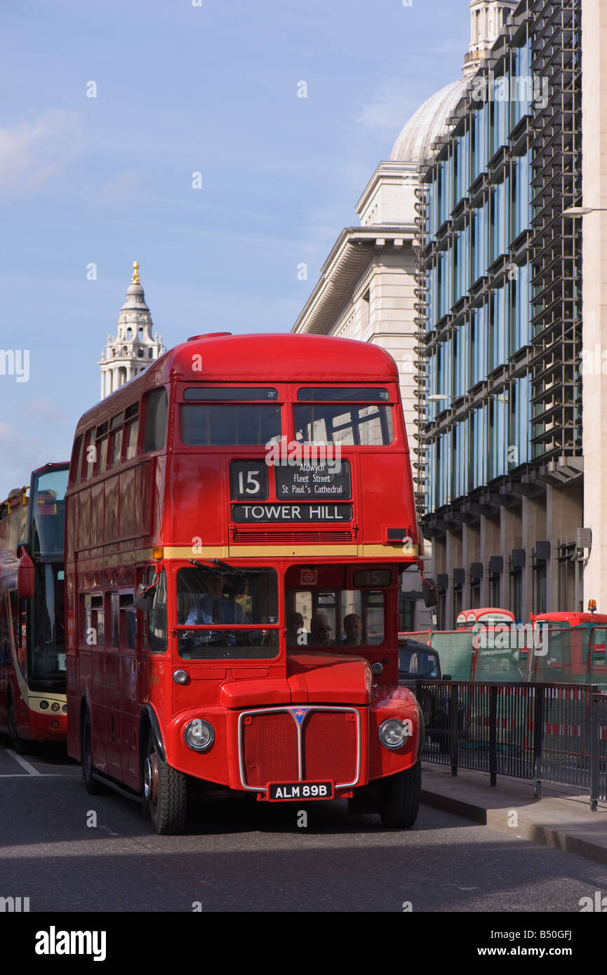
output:
<instances>
[{"instance_id":1,"label":"pale blue sky above the buses and buildings","mask_svg":"<svg viewBox=\"0 0 607 975\"><path fill-rule=\"evenodd\" d=\"M69 459L134 260L165 346L290 331L405 122L460 77L467 8L0 6L0 499Z\"/></svg>"}]
</instances>

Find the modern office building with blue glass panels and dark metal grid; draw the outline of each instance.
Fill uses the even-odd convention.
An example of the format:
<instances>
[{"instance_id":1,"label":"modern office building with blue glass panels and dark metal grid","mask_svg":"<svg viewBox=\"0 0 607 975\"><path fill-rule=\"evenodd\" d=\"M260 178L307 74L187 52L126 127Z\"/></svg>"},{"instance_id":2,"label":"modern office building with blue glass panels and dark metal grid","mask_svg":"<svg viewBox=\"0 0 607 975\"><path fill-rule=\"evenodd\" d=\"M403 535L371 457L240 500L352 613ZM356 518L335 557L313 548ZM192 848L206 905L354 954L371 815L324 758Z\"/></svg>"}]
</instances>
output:
<instances>
[{"instance_id":1,"label":"modern office building with blue glass panels and dark metal grid","mask_svg":"<svg viewBox=\"0 0 607 975\"><path fill-rule=\"evenodd\" d=\"M582 220L563 215L582 199L581 5L509 5L423 167L418 472L441 626L582 600Z\"/></svg>"}]
</instances>

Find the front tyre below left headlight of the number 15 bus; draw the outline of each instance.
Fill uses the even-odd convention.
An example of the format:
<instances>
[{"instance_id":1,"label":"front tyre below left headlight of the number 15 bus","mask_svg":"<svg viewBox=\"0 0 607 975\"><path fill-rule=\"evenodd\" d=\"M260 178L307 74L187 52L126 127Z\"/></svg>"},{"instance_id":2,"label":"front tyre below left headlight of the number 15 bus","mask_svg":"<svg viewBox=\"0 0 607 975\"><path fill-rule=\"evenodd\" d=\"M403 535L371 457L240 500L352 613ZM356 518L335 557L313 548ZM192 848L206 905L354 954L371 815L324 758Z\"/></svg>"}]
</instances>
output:
<instances>
[{"instance_id":1,"label":"front tyre below left headlight of the number 15 bus","mask_svg":"<svg viewBox=\"0 0 607 975\"><path fill-rule=\"evenodd\" d=\"M155 832L183 832L187 814L187 779L161 758L150 730L143 761L143 803Z\"/></svg>"}]
</instances>

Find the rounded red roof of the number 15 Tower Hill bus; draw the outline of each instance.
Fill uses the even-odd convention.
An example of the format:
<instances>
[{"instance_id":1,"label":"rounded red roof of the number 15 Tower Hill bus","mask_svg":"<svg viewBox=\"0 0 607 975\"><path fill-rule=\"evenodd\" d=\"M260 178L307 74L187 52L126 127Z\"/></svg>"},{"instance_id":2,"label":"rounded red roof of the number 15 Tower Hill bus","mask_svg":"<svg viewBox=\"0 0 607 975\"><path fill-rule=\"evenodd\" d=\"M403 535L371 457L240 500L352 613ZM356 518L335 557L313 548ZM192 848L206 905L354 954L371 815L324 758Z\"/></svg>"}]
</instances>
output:
<instances>
[{"instance_id":1,"label":"rounded red roof of the number 15 Tower Hill bus","mask_svg":"<svg viewBox=\"0 0 607 975\"><path fill-rule=\"evenodd\" d=\"M194 357L197 357L196 360ZM196 370L192 365L196 361ZM198 369L198 366L200 367ZM330 335L195 335L150 363L78 422L81 432L101 416L118 412L147 389L170 379L192 382L398 382L396 363L368 342Z\"/></svg>"}]
</instances>

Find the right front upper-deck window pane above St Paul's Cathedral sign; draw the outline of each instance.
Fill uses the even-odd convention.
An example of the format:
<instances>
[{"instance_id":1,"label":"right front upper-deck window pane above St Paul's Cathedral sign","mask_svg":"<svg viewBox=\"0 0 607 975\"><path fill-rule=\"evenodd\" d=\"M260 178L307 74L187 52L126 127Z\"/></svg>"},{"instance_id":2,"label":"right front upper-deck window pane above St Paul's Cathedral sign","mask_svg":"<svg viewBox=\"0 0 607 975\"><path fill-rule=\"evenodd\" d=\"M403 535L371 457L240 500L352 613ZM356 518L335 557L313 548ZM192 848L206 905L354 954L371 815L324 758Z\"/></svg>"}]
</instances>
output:
<instances>
[{"instance_id":1,"label":"right front upper-deck window pane above St Paul's Cathedral sign","mask_svg":"<svg viewBox=\"0 0 607 975\"><path fill-rule=\"evenodd\" d=\"M344 444L345 447L385 447L392 443L392 408L330 406L319 403L294 407L299 441Z\"/></svg>"}]
</instances>

